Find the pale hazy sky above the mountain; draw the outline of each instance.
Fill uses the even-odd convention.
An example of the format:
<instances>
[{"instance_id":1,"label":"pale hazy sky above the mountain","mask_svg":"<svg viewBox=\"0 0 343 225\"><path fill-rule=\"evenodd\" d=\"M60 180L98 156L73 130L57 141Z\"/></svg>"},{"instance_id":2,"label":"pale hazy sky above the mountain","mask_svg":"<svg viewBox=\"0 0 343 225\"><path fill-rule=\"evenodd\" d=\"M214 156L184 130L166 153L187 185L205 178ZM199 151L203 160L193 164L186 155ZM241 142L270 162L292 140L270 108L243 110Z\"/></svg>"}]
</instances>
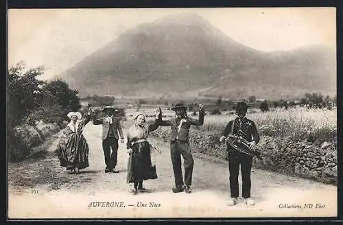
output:
<instances>
[{"instance_id":1,"label":"pale hazy sky above the mountain","mask_svg":"<svg viewBox=\"0 0 343 225\"><path fill-rule=\"evenodd\" d=\"M335 8L11 9L8 66L45 66L47 80L140 23L198 13L237 42L261 51L336 45Z\"/></svg>"}]
</instances>

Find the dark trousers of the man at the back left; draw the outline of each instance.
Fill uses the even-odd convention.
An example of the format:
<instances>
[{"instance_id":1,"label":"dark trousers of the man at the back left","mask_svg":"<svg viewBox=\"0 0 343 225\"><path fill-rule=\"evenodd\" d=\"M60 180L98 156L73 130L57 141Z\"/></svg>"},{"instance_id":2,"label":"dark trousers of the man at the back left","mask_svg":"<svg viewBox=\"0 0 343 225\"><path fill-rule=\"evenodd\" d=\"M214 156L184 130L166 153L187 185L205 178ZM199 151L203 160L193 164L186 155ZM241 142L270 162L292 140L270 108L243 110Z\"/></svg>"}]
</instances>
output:
<instances>
[{"instance_id":1,"label":"dark trousers of the man at the back left","mask_svg":"<svg viewBox=\"0 0 343 225\"><path fill-rule=\"evenodd\" d=\"M108 137L102 140L102 149L104 150L106 168L115 168L117 166L118 139L115 137Z\"/></svg>"}]
</instances>

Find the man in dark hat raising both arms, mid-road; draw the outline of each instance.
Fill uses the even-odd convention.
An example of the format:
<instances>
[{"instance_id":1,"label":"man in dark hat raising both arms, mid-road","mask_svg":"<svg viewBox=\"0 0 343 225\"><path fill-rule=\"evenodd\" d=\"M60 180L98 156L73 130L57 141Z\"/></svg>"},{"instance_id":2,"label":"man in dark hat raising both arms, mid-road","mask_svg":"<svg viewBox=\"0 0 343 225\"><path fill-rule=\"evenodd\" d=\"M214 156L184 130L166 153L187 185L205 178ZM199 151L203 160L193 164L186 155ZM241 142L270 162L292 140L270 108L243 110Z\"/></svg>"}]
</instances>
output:
<instances>
[{"instance_id":1,"label":"man in dark hat raising both arms, mid-road","mask_svg":"<svg viewBox=\"0 0 343 225\"><path fill-rule=\"evenodd\" d=\"M187 107L183 104L176 104L171 110L175 111L175 118L161 121L160 126L171 127L170 153L175 176L175 187L172 191L178 193L185 190L186 193L191 193L194 161L189 148L189 128L191 125L201 126L204 123L204 108L199 106L198 120L187 117ZM185 182L182 178L181 155L185 167Z\"/></svg>"}]
</instances>

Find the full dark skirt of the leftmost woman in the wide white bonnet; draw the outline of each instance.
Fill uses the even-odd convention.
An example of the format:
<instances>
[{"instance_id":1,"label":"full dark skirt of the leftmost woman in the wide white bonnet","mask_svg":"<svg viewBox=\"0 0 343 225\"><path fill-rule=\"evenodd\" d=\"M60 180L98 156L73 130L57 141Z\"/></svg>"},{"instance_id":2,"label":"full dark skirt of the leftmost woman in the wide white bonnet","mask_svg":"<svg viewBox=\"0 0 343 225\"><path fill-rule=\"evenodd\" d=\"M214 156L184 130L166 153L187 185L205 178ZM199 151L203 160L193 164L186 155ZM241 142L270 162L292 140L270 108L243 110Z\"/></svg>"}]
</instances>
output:
<instances>
[{"instance_id":1,"label":"full dark skirt of the leftmost woman in the wide white bonnet","mask_svg":"<svg viewBox=\"0 0 343 225\"><path fill-rule=\"evenodd\" d=\"M83 134L80 132L73 133L67 139L67 144L58 145L60 166L66 167L67 170L75 167L84 169L89 166L88 152L88 143Z\"/></svg>"}]
</instances>

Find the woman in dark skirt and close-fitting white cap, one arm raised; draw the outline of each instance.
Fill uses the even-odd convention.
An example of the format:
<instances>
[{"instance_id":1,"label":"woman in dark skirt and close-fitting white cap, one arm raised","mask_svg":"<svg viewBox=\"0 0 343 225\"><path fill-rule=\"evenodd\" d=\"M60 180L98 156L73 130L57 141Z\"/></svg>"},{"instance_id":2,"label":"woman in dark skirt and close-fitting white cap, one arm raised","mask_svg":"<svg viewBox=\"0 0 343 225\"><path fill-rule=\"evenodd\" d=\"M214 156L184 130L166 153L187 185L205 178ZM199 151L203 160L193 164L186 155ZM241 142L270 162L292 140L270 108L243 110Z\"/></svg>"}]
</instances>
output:
<instances>
[{"instance_id":1,"label":"woman in dark skirt and close-fitting white cap, one arm raised","mask_svg":"<svg viewBox=\"0 0 343 225\"><path fill-rule=\"evenodd\" d=\"M146 116L143 113L138 113L132 117L134 124L128 129L126 134L128 154L128 183L134 183L132 193L147 191L143 188L143 180L156 179L156 166L152 165L151 150L152 145L147 142L147 137L150 132L156 130L161 121L161 108L156 110L156 118L154 123L147 124Z\"/></svg>"}]
</instances>

